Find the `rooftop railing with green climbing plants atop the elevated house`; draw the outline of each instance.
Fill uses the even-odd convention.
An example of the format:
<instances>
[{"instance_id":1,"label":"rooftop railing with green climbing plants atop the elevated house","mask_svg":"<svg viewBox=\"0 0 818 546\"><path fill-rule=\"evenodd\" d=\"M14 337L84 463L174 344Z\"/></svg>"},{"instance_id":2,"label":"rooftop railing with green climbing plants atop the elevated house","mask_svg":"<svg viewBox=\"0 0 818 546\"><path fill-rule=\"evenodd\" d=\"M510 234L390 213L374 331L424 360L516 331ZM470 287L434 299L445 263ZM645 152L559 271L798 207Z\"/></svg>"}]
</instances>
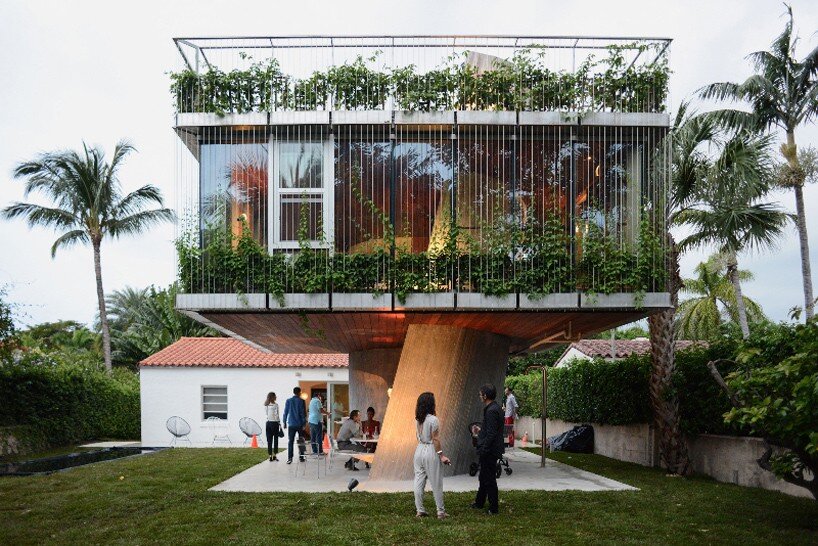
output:
<instances>
[{"instance_id":1,"label":"rooftop railing with green climbing plants atop the elevated house","mask_svg":"<svg viewBox=\"0 0 818 546\"><path fill-rule=\"evenodd\" d=\"M670 40L578 36L174 38L176 111L662 112Z\"/></svg>"}]
</instances>

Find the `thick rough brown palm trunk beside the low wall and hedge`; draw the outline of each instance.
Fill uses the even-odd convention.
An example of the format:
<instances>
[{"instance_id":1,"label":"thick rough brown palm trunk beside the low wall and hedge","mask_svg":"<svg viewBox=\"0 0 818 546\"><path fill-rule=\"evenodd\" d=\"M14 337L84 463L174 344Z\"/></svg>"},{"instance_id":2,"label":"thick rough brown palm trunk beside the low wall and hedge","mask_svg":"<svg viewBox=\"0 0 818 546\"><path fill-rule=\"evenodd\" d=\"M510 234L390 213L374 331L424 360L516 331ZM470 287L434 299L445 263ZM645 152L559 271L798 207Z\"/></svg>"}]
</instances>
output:
<instances>
[{"instance_id":1,"label":"thick rough brown palm trunk beside the low wall and hedge","mask_svg":"<svg viewBox=\"0 0 818 546\"><path fill-rule=\"evenodd\" d=\"M671 308L648 318L651 346L650 403L653 422L659 435L660 464L672 474L687 474L690 459L687 444L679 425L679 400L673 392L673 374L676 371L676 344L673 316L679 301L679 255L673 239L671 247L670 298Z\"/></svg>"}]
</instances>

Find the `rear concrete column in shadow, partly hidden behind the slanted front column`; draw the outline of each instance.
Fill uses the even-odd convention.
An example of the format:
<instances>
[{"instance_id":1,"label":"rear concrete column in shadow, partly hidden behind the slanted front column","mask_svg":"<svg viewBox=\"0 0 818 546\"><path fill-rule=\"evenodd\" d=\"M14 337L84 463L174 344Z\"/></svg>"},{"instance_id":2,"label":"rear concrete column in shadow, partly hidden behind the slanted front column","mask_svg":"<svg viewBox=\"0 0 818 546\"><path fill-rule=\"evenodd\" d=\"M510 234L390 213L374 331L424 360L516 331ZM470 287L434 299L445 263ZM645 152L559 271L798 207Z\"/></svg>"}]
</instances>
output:
<instances>
[{"instance_id":1,"label":"rear concrete column in shadow, partly hidden behind the slanted front column","mask_svg":"<svg viewBox=\"0 0 818 546\"><path fill-rule=\"evenodd\" d=\"M375 418L383 423L389 402L387 390L395 381L400 349L371 349L349 353L350 409L361 412L366 420L366 408L375 408Z\"/></svg>"}]
</instances>

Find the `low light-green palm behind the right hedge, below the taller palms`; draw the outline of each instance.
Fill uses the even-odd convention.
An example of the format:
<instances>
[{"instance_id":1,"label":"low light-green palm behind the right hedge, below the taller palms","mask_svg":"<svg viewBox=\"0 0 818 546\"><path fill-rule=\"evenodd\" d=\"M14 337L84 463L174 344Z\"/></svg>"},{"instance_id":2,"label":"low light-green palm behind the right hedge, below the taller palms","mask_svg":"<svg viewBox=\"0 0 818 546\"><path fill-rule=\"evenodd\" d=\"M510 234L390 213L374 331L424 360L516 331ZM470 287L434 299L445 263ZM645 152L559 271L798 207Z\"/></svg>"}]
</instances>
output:
<instances>
[{"instance_id":1,"label":"low light-green palm behind the right hedge, below the taller palms","mask_svg":"<svg viewBox=\"0 0 818 546\"><path fill-rule=\"evenodd\" d=\"M727 260L719 254L696 266L696 278L684 279L682 292L692 297L679 304L676 331L682 339L714 339L725 320L738 324L736 291L727 276ZM753 279L749 271L738 272L742 282ZM764 320L756 302L744 297L750 322Z\"/></svg>"}]
</instances>

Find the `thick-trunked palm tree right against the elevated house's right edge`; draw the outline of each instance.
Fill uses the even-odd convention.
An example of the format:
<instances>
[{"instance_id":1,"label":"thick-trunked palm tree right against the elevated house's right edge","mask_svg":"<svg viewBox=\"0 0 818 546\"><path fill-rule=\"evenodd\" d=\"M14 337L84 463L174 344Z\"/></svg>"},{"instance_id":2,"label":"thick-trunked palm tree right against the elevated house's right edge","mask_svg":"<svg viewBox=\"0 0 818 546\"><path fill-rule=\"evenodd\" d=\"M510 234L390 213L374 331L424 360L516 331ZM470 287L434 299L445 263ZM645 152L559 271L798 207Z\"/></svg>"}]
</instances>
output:
<instances>
[{"instance_id":1,"label":"thick-trunked palm tree right against the elevated house's right edge","mask_svg":"<svg viewBox=\"0 0 818 546\"><path fill-rule=\"evenodd\" d=\"M696 116L686 103L676 113L673 127L665 140L670 146L669 225L676 223L693 201L695 191L705 178L710 162L708 147L717 142L718 128L708 117ZM663 155L664 157L664 155ZM668 232L671 275L668 290L671 307L648 318L651 346L650 402L653 421L659 433L659 455L662 466L672 474L686 474L690 467L679 421L679 399L673 388L676 372L676 343L673 328L679 302L679 249Z\"/></svg>"}]
</instances>

